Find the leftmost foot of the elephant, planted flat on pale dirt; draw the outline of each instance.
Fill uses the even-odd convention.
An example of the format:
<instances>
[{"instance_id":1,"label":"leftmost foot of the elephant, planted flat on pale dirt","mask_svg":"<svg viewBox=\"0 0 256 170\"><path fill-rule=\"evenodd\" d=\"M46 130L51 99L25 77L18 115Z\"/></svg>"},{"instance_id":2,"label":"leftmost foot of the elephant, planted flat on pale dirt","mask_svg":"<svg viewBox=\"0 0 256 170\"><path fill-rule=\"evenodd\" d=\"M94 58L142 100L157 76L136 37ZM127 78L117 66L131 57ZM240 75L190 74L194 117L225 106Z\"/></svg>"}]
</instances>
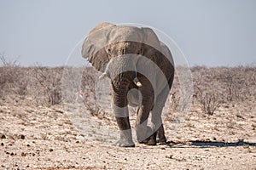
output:
<instances>
[{"instance_id":1,"label":"leftmost foot of the elephant, planted flat on pale dirt","mask_svg":"<svg viewBox=\"0 0 256 170\"><path fill-rule=\"evenodd\" d=\"M116 142L116 145L120 147L135 147L131 137L131 129L120 132L120 139Z\"/></svg>"}]
</instances>

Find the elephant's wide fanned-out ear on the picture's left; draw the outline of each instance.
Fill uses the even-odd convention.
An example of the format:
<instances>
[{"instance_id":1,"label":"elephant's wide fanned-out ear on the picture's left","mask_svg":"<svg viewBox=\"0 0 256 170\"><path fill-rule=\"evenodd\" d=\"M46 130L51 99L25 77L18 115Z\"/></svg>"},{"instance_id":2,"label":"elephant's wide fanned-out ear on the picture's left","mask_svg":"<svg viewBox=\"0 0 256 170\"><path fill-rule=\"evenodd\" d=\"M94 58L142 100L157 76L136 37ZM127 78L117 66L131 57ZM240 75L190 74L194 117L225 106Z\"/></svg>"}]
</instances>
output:
<instances>
[{"instance_id":1,"label":"elephant's wide fanned-out ear on the picture's left","mask_svg":"<svg viewBox=\"0 0 256 170\"><path fill-rule=\"evenodd\" d=\"M82 46L82 56L98 70L105 71L108 64L108 53L105 47L108 45L109 33L113 24L102 23L92 29L85 38Z\"/></svg>"}]
</instances>

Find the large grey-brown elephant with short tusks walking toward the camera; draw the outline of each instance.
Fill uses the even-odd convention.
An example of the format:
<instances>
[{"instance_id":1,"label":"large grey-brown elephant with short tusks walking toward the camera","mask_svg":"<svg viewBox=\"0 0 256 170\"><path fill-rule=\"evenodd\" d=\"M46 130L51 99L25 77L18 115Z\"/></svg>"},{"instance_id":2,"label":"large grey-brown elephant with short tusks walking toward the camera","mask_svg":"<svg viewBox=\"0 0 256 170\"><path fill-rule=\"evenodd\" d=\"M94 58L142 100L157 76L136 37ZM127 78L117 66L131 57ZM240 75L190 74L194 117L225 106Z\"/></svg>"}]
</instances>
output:
<instances>
[{"instance_id":1,"label":"large grey-brown elephant with short tusks walking toward the camera","mask_svg":"<svg viewBox=\"0 0 256 170\"><path fill-rule=\"evenodd\" d=\"M137 106L135 131L142 144L166 144L161 120L172 88L174 62L169 48L148 27L102 23L84 39L82 56L111 80L113 114L120 130L116 143L134 147L128 105ZM151 125L148 116L151 114Z\"/></svg>"}]
</instances>

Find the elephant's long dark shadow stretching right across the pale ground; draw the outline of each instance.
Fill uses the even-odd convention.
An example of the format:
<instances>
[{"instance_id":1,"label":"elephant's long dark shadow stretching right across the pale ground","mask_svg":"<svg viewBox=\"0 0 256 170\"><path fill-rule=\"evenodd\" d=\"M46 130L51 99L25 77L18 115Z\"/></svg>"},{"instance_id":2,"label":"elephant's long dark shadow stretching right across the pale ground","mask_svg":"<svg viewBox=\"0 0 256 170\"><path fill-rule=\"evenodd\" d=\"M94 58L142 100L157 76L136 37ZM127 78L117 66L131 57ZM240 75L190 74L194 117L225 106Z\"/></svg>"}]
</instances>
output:
<instances>
[{"instance_id":1,"label":"elephant's long dark shadow stretching right across the pale ground","mask_svg":"<svg viewBox=\"0 0 256 170\"><path fill-rule=\"evenodd\" d=\"M256 143L244 142L239 140L237 142L218 142L218 141L204 141L204 140L190 140L186 142L167 142L171 148L212 148L212 147L236 147L236 146L256 146Z\"/></svg>"}]
</instances>

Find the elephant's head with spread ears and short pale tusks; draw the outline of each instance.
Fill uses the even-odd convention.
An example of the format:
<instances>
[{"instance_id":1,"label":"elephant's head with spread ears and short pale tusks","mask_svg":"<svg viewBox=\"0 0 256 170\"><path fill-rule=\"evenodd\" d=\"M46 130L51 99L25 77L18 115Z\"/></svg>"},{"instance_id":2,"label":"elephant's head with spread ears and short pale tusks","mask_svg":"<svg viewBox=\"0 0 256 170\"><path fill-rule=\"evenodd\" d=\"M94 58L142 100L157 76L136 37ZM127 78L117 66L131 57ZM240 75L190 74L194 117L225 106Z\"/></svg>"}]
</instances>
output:
<instances>
[{"instance_id":1,"label":"elephant's head with spread ears and short pale tusks","mask_svg":"<svg viewBox=\"0 0 256 170\"><path fill-rule=\"evenodd\" d=\"M141 87L143 84L136 73L140 58L136 55L146 55L151 59L154 57L150 55L152 47L160 50L160 42L149 28L102 23L90 31L84 40L82 55L103 72L102 77L110 77L113 85L116 85L116 74L123 73L122 76L125 74L125 78L133 78L137 87Z\"/></svg>"}]
</instances>

